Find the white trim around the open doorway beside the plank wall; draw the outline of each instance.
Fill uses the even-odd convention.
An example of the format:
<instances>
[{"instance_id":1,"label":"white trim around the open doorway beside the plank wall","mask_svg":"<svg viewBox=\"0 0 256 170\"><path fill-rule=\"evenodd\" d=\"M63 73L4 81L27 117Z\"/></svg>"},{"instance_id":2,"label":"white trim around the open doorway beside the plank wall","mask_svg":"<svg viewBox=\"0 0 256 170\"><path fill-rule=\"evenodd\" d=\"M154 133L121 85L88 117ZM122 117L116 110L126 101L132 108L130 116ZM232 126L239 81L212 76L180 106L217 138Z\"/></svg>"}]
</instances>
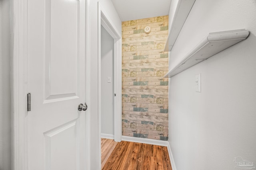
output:
<instances>
[{"instance_id":1,"label":"white trim around the open doorway beside the plank wall","mask_svg":"<svg viewBox=\"0 0 256 170\"><path fill-rule=\"evenodd\" d=\"M103 26L114 39L114 141L122 141L122 34L98 2L98 95L99 95L99 130L101 131L101 30ZM100 132L101 134L101 132ZM100 139L100 138L99 138Z\"/></svg>"}]
</instances>

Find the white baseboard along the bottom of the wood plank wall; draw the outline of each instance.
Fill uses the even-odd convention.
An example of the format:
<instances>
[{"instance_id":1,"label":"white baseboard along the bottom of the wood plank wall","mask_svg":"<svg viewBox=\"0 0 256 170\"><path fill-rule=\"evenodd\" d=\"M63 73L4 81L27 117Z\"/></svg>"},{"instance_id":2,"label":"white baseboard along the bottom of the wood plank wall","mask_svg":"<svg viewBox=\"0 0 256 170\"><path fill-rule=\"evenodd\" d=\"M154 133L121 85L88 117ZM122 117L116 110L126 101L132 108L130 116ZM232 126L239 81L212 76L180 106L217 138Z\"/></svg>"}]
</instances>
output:
<instances>
[{"instance_id":1,"label":"white baseboard along the bottom of the wood plank wall","mask_svg":"<svg viewBox=\"0 0 256 170\"><path fill-rule=\"evenodd\" d=\"M160 140L146 139L146 138L140 138L140 137L122 136L122 141L146 143L146 144L159 145L164 147L168 146L168 141L160 141Z\"/></svg>"}]
</instances>

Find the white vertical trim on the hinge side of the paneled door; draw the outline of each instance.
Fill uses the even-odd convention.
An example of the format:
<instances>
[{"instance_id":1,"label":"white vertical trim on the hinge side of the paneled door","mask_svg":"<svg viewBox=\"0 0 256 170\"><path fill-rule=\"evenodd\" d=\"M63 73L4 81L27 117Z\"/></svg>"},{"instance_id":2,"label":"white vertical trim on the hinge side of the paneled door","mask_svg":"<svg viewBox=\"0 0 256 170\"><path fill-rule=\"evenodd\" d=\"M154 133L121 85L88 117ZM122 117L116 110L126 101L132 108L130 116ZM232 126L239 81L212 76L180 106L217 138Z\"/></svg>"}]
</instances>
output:
<instances>
[{"instance_id":1,"label":"white vertical trim on the hinge side of the paneled door","mask_svg":"<svg viewBox=\"0 0 256 170\"><path fill-rule=\"evenodd\" d=\"M12 170L28 169L27 157L27 0L11 1Z\"/></svg>"}]
</instances>

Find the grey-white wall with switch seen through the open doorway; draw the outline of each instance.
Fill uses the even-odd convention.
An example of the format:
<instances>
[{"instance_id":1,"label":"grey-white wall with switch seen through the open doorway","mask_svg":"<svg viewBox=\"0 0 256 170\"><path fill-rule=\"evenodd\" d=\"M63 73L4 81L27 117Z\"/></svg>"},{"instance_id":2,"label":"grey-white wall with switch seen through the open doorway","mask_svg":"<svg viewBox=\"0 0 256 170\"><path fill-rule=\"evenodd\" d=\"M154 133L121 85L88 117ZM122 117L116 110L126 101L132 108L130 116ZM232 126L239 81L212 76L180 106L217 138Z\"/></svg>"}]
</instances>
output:
<instances>
[{"instance_id":1,"label":"grey-white wall with switch seen through the open doorway","mask_svg":"<svg viewBox=\"0 0 256 170\"><path fill-rule=\"evenodd\" d=\"M111 82L108 82L108 77ZM114 39L101 26L101 133L114 135ZM114 136L113 136L114 137Z\"/></svg>"}]
</instances>

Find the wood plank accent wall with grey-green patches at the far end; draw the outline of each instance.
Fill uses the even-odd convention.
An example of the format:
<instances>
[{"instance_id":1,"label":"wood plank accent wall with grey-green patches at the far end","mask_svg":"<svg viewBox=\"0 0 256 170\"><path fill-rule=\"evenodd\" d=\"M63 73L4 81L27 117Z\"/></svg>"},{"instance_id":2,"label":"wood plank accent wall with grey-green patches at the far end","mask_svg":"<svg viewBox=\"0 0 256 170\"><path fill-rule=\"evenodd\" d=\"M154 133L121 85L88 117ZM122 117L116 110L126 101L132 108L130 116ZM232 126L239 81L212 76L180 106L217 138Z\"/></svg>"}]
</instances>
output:
<instances>
[{"instance_id":1,"label":"wood plank accent wall with grey-green patches at the far end","mask_svg":"<svg viewBox=\"0 0 256 170\"><path fill-rule=\"evenodd\" d=\"M168 16L122 22L124 136L168 140L167 37Z\"/></svg>"}]
</instances>

